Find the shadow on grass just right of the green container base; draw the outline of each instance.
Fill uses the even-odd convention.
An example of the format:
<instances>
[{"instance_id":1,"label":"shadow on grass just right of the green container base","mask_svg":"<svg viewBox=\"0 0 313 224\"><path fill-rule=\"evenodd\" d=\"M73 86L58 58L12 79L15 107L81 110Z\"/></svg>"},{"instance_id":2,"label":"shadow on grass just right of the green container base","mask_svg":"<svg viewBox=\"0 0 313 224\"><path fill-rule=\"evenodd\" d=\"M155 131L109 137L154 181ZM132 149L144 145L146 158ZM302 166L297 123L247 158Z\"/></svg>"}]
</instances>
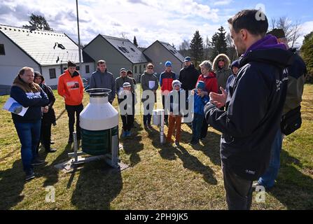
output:
<instances>
[{"instance_id":1,"label":"shadow on grass just right of the green container base","mask_svg":"<svg viewBox=\"0 0 313 224\"><path fill-rule=\"evenodd\" d=\"M144 149L144 144L140 143L142 137L139 136L142 127L136 120L134 125L136 128L132 128L132 137L120 138L120 142L123 144L123 150L127 155L130 155L130 166L132 167L141 161L138 153Z\"/></svg>"}]
</instances>

